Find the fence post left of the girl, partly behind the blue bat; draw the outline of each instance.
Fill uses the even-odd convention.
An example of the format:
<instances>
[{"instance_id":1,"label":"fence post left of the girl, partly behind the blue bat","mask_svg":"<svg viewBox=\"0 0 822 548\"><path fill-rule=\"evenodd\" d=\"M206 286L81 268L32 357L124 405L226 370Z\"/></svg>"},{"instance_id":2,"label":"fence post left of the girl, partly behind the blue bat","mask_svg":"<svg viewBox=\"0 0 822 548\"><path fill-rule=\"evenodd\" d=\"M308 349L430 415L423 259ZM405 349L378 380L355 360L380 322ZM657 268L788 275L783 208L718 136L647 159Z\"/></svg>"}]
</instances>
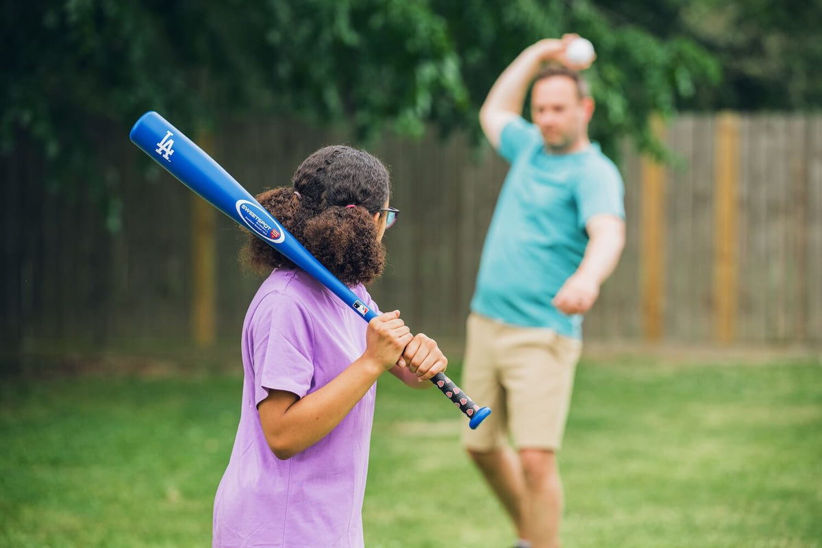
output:
<instances>
[{"instance_id":1,"label":"fence post left of the girl, partly behind the blue bat","mask_svg":"<svg viewBox=\"0 0 822 548\"><path fill-rule=\"evenodd\" d=\"M214 152L214 135L200 128L196 143L208 154ZM198 348L209 348L216 334L216 214L200 196L192 200L192 334Z\"/></svg>"}]
</instances>

